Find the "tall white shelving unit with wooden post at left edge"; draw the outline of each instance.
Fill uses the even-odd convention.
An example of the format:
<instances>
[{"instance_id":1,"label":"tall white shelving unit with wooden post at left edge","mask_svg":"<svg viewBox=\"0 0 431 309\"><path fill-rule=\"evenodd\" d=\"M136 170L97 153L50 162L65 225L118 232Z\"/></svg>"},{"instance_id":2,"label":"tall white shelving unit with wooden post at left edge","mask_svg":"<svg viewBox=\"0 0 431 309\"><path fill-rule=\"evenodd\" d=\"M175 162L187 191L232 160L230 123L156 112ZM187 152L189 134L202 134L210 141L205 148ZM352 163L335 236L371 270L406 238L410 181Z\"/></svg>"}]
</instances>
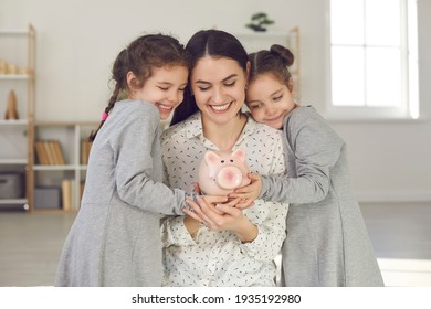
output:
<instances>
[{"instance_id":1,"label":"tall white shelving unit with wooden post at left edge","mask_svg":"<svg viewBox=\"0 0 431 309\"><path fill-rule=\"evenodd\" d=\"M0 29L0 209L31 207L34 83L34 28ZM12 92L18 117L7 117ZM12 188L6 187L14 174L22 175L20 188L15 182ZM11 190L23 193L14 196Z\"/></svg>"}]
</instances>

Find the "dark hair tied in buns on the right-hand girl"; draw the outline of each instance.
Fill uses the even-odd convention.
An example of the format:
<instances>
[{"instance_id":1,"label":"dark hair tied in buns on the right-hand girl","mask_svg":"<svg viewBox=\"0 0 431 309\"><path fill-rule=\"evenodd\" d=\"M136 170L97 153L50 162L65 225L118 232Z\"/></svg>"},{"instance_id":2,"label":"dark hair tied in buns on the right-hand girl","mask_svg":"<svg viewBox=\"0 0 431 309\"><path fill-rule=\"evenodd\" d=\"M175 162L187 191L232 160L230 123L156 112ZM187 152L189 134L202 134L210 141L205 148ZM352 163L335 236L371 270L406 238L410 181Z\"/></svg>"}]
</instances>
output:
<instances>
[{"instance_id":1,"label":"dark hair tied in buns on the right-hand girl","mask_svg":"<svg viewBox=\"0 0 431 309\"><path fill-rule=\"evenodd\" d=\"M291 78L288 67L293 64L294 56L292 52L282 45L274 44L270 51L263 50L249 55L251 70L249 73L249 83L257 75L272 73L282 83L287 85Z\"/></svg>"}]
</instances>

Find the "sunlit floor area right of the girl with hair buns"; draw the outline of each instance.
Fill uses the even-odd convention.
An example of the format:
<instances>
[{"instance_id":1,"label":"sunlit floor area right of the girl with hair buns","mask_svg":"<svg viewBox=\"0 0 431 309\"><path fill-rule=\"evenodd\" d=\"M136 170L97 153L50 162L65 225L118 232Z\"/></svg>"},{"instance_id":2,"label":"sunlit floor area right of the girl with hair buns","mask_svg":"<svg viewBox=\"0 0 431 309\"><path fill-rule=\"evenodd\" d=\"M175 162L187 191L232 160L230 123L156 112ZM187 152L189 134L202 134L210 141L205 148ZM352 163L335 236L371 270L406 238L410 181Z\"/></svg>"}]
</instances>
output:
<instances>
[{"instance_id":1,"label":"sunlit floor area right of the girl with hair buns","mask_svg":"<svg viewBox=\"0 0 431 309\"><path fill-rule=\"evenodd\" d=\"M431 287L431 204L362 204L386 286Z\"/></svg>"}]
</instances>

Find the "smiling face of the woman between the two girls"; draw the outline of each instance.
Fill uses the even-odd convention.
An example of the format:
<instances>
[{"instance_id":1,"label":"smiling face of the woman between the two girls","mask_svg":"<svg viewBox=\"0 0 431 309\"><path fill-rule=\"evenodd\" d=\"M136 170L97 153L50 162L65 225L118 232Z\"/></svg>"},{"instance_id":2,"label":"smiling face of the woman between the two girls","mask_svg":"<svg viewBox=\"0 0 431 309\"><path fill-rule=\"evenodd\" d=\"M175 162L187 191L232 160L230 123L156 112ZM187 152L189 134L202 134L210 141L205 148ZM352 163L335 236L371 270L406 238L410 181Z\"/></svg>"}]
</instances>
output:
<instances>
[{"instance_id":1,"label":"smiling face of the woman between the two girls","mask_svg":"<svg viewBox=\"0 0 431 309\"><path fill-rule=\"evenodd\" d=\"M244 72L231 58L200 58L191 73L191 90L202 120L219 125L235 118L245 100Z\"/></svg>"}]
</instances>

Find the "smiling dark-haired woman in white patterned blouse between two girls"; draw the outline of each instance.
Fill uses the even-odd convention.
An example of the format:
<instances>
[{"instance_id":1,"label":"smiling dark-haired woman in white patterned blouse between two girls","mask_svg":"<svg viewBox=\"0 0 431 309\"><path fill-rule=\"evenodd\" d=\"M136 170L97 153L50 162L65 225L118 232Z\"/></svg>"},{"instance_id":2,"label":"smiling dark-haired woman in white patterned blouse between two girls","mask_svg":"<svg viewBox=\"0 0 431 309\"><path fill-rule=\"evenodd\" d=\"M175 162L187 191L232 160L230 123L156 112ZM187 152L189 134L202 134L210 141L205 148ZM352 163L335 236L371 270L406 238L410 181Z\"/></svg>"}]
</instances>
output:
<instances>
[{"instance_id":1,"label":"smiling dark-haired woman in white patterned blouse between two girls","mask_svg":"<svg viewBox=\"0 0 431 309\"><path fill-rule=\"evenodd\" d=\"M161 137L166 183L191 193L207 150L243 148L251 171L284 172L281 134L241 111L250 70L241 43L227 32L206 30L186 50L192 57L189 86L174 126ZM287 204L256 200L244 211L232 204L214 209L202 201L196 211L206 225L191 216L164 221L165 285L276 285L274 258L286 236Z\"/></svg>"}]
</instances>

